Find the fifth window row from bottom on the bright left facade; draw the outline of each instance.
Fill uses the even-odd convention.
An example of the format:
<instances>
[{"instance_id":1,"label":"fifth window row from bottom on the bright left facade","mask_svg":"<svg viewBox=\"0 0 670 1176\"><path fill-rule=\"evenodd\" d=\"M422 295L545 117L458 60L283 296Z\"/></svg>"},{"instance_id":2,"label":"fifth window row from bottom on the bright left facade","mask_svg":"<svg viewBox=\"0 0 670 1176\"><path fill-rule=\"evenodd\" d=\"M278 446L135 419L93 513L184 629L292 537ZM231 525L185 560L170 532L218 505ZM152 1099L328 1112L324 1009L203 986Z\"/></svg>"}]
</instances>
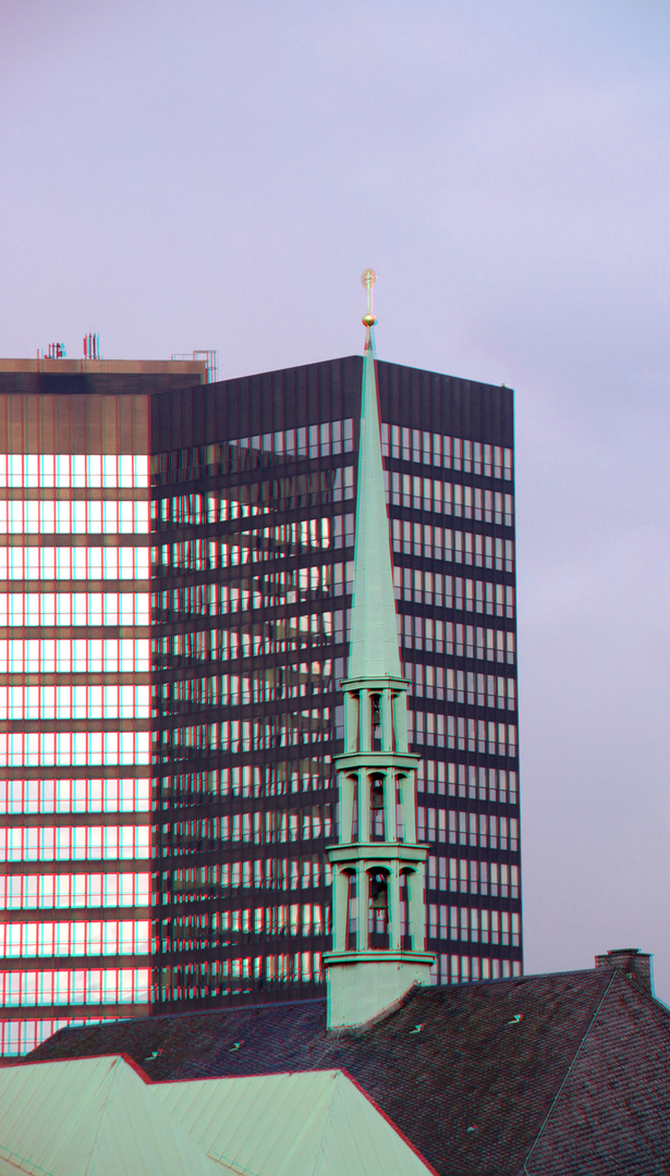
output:
<instances>
[{"instance_id":1,"label":"fifth window row from bottom on the bright left facade","mask_svg":"<svg viewBox=\"0 0 670 1176\"><path fill-rule=\"evenodd\" d=\"M120 861L148 857L147 824L0 828L0 862Z\"/></svg>"}]
</instances>

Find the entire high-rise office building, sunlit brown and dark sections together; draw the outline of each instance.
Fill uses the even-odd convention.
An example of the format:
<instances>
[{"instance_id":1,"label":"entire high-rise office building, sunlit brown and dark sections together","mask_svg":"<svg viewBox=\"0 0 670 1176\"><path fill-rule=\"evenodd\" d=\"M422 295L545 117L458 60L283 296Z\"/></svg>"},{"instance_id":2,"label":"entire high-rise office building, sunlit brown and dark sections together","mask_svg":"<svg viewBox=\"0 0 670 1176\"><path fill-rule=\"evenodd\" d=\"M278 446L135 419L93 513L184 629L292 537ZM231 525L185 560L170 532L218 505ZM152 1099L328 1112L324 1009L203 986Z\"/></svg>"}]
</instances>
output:
<instances>
[{"instance_id":1,"label":"entire high-rise office building, sunlit brown and dark sections together","mask_svg":"<svg viewBox=\"0 0 670 1176\"><path fill-rule=\"evenodd\" d=\"M55 1021L323 991L363 360L167 368L132 394L0 373L6 1051ZM427 943L443 982L513 975L512 393L378 381ZM49 426L65 400L98 406L99 440Z\"/></svg>"}]
</instances>

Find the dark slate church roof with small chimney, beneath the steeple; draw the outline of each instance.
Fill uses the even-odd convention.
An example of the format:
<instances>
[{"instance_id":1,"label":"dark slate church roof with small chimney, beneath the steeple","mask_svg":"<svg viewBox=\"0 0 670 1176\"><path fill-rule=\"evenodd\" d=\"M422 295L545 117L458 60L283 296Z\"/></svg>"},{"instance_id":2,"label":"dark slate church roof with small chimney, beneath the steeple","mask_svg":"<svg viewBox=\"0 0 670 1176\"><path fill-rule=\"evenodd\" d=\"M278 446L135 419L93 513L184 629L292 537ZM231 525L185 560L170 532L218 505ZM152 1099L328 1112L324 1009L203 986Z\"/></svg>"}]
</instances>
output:
<instances>
[{"instance_id":1,"label":"dark slate church roof with small chimney, beneath the steeple","mask_svg":"<svg viewBox=\"0 0 670 1176\"><path fill-rule=\"evenodd\" d=\"M66 1029L29 1061L119 1053L153 1081L345 1070L439 1176L670 1172L670 1013L617 968L416 989L364 1031L324 1001Z\"/></svg>"}]
</instances>

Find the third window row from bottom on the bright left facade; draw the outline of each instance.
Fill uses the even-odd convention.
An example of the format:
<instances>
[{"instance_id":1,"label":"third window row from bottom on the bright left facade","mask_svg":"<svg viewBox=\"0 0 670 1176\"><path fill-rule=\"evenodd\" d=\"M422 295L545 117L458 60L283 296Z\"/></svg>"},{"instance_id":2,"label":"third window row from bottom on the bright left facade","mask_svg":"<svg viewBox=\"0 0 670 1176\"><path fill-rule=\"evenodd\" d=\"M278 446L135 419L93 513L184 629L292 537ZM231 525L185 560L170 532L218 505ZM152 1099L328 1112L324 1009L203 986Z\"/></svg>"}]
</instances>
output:
<instances>
[{"instance_id":1,"label":"third window row from bottom on the bright left facade","mask_svg":"<svg viewBox=\"0 0 670 1176\"><path fill-rule=\"evenodd\" d=\"M73 923L0 923L0 957L147 955L148 920Z\"/></svg>"}]
</instances>

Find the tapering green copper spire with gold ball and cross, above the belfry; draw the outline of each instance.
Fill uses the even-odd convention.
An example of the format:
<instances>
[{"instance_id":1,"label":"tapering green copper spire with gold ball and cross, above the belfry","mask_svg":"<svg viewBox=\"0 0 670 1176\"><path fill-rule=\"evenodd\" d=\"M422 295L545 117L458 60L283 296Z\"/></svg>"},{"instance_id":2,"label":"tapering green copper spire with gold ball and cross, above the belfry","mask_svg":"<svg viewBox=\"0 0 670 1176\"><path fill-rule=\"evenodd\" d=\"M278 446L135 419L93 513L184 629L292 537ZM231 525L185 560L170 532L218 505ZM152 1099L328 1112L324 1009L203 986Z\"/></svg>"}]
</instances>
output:
<instances>
[{"instance_id":1,"label":"tapering green copper spire with gold ball and cross, above the belfry","mask_svg":"<svg viewBox=\"0 0 670 1176\"><path fill-rule=\"evenodd\" d=\"M384 466L379 430L379 394L374 352L374 323L377 320L372 313L374 272L366 269L361 281L367 288L367 313L363 318L366 332L356 503L353 609L347 676L350 679L382 677L384 675L402 677L391 567L391 536L384 494Z\"/></svg>"}]
</instances>

